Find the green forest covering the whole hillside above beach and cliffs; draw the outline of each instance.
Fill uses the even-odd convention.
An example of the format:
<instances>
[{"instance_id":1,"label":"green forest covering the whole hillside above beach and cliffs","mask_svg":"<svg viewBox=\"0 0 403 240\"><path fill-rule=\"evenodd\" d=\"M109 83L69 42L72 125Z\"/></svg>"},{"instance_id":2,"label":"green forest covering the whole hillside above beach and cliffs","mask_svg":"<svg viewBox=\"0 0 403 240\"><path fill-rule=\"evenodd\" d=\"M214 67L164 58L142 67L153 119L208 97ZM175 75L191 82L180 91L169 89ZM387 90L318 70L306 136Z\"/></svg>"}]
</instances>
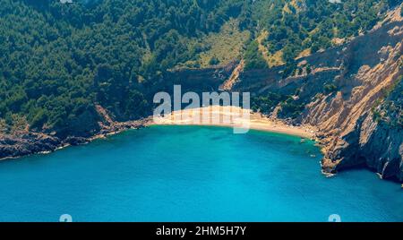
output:
<instances>
[{"instance_id":1,"label":"green forest covering the whole hillside above beach and cliffs","mask_svg":"<svg viewBox=\"0 0 403 240\"><path fill-rule=\"evenodd\" d=\"M298 56L371 30L398 2L0 0L0 131L90 134L93 125L82 123L98 121L98 104L117 121L148 116L167 71L200 66L204 56L225 64L204 39L225 39L229 21L242 46L230 57L244 58L245 69L292 69ZM264 98L267 111L281 100L300 109Z\"/></svg>"}]
</instances>

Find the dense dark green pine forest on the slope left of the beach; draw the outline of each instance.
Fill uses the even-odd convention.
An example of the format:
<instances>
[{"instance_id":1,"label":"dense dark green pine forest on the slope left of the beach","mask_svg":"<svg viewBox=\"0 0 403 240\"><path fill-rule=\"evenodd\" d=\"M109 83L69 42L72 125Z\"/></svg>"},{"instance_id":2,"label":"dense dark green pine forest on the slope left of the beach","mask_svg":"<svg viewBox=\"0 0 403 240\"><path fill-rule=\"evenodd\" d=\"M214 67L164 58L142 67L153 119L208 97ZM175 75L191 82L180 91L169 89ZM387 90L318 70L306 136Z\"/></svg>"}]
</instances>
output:
<instances>
[{"instance_id":1,"label":"dense dark green pine forest on the slope left of the beach","mask_svg":"<svg viewBox=\"0 0 403 240\"><path fill-rule=\"evenodd\" d=\"M1 0L4 129L28 123L68 135L97 120L94 104L117 120L148 115L162 73L197 56L188 43L219 30L236 2Z\"/></svg>"}]
</instances>

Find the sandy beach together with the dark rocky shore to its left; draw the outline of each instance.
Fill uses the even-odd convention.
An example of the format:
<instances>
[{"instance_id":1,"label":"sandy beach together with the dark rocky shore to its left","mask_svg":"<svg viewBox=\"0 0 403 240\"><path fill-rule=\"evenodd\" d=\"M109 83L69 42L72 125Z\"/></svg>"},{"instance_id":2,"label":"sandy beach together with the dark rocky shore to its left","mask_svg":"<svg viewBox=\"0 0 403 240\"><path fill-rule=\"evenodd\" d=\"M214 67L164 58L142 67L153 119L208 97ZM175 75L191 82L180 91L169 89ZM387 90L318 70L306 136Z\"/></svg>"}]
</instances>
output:
<instances>
[{"instance_id":1,"label":"sandy beach together with the dark rocky shore to its left","mask_svg":"<svg viewBox=\"0 0 403 240\"><path fill-rule=\"evenodd\" d=\"M181 111L174 111L170 115L165 117L157 117L154 119L153 116L148 116L135 121L128 122L116 122L107 115L107 112L102 107L98 106L98 111L101 116L108 119L108 125L103 125L103 128L99 133L95 133L90 137L75 137L71 136L67 139L58 139L54 136L47 135L45 133L22 133L21 137L14 138L14 136L7 139L5 138L4 145L0 145L0 161L5 159L18 159L24 156L30 156L33 154L48 154L55 150L62 150L66 147L82 145L90 143L98 139L104 139L108 136L112 136L118 133L123 133L127 130L139 129L142 127L148 127L151 125L206 125L206 126L225 126L225 127L236 127L239 123L236 121L241 121L242 124L248 126L249 129L271 132L271 133L285 133L289 135L299 136L307 139L314 139L317 130L313 126L293 126L285 124L279 119L271 119L266 116L262 116L258 113L250 112L249 119L237 118L238 114L244 110L241 107L199 107L193 109L186 109ZM203 111L207 110L209 113L208 123L194 123L191 117L193 115L202 116ZM217 115L216 115L217 114ZM177 117L183 118L178 120ZM230 123L224 123L223 117L229 116L231 119ZM156 123L158 121L159 123ZM7 143L7 141L13 144ZM18 144L15 144L18 143Z\"/></svg>"}]
</instances>

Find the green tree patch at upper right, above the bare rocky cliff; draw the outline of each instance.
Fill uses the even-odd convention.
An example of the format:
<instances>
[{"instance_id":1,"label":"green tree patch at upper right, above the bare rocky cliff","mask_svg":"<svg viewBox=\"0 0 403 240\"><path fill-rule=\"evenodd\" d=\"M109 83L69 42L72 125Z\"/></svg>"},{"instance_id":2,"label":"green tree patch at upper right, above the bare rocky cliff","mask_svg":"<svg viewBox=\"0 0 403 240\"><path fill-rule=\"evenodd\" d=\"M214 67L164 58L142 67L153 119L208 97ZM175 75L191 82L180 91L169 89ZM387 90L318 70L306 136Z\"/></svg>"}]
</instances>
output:
<instances>
[{"instance_id":1,"label":"green tree patch at upper right, above the bare rocky cliff","mask_svg":"<svg viewBox=\"0 0 403 240\"><path fill-rule=\"evenodd\" d=\"M326 49L372 29L388 5L395 4L391 2L257 1L252 19L259 29L269 33L263 42L269 55L277 54L286 64L293 64L297 56Z\"/></svg>"}]
</instances>

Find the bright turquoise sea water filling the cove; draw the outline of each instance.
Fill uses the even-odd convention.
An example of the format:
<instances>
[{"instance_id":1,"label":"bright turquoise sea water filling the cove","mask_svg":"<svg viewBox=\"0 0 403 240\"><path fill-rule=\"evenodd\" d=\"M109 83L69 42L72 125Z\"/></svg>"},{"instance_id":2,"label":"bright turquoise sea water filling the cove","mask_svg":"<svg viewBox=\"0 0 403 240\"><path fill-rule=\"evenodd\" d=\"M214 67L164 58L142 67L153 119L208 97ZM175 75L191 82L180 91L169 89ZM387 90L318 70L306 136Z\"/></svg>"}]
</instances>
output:
<instances>
[{"instance_id":1,"label":"bright turquoise sea water filling the cove","mask_svg":"<svg viewBox=\"0 0 403 240\"><path fill-rule=\"evenodd\" d=\"M326 178L312 141L214 126L151 126L0 162L0 220L403 221L400 185ZM315 157L313 157L315 156Z\"/></svg>"}]
</instances>

